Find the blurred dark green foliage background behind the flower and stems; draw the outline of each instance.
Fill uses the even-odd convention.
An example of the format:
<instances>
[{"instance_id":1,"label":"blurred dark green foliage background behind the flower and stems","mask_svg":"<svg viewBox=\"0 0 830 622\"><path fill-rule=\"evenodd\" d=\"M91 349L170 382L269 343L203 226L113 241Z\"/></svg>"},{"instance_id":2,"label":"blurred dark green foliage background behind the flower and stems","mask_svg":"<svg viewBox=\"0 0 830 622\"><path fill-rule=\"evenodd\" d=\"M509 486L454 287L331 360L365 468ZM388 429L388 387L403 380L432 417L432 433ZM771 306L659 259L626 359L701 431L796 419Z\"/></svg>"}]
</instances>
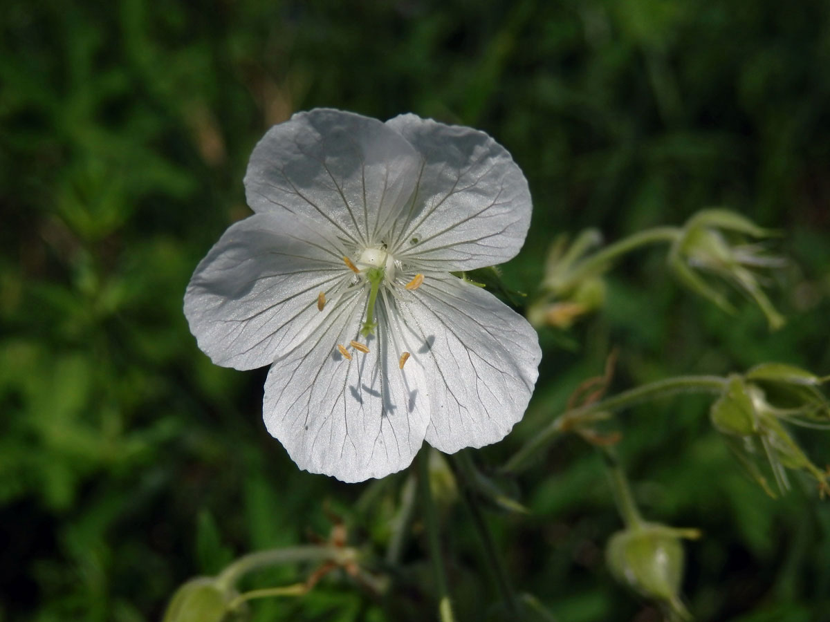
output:
<instances>
[{"instance_id":1,"label":"blurred dark green foliage background behind the flower and stems","mask_svg":"<svg viewBox=\"0 0 830 622\"><path fill-rule=\"evenodd\" d=\"M349 486L298 471L262 425L265 370L212 366L183 318L198 260L249 213L242 176L271 124L330 106L486 130L534 196L505 268L531 299L559 233L593 226L613 241L712 206L781 231L772 248L791 262L769 286L785 328L682 289L665 249L632 255L603 309L542 331L535 399L507 440L476 452L487 469L613 347L615 391L770 360L830 372L828 67L826 0L4 2L0 620L159 620L188 577L327 534L326 507L383 550L405 474ZM706 409L677 396L619 425L647 518L705 532L686 547L691 610L830 620L828 502L798 478L768 498ZM798 438L828 461L827 435ZM593 449L561 440L513 485L530 515L487 519L515 586L563 622L660 619L604 564L620 522ZM458 619L494 615L469 516L454 504L444 516ZM429 619L417 533L404 559L405 607L333 577L256 603L254 620Z\"/></svg>"}]
</instances>

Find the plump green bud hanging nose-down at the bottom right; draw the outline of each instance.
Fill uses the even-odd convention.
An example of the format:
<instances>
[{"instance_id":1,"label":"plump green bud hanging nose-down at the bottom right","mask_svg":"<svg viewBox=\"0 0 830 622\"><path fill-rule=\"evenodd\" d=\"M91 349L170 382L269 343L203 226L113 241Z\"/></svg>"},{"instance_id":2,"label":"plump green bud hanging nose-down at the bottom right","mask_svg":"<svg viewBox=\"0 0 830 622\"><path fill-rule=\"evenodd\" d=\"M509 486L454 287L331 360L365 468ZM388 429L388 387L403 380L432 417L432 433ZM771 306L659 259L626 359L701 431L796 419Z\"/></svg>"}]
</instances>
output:
<instances>
[{"instance_id":1,"label":"plump green bud hanging nose-down at the bottom right","mask_svg":"<svg viewBox=\"0 0 830 622\"><path fill-rule=\"evenodd\" d=\"M680 597L684 564L680 539L699 535L693 529L675 529L654 522L627 527L608 540L608 569L617 581L638 594L661 601L676 615L689 618Z\"/></svg>"}]
</instances>

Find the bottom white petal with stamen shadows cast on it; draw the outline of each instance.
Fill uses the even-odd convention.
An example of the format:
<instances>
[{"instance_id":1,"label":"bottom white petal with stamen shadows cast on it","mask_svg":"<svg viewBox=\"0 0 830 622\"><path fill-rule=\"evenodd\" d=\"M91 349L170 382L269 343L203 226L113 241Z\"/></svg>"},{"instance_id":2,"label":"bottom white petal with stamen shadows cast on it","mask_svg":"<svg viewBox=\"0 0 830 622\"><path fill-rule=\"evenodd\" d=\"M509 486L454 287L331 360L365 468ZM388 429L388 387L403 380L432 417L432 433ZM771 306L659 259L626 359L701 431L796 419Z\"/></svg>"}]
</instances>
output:
<instances>
[{"instance_id":1,"label":"bottom white petal with stamen shadows cast on it","mask_svg":"<svg viewBox=\"0 0 830 622\"><path fill-rule=\"evenodd\" d=\"M376 307L378 337L364 340L369 352L348 348L365 307L365 297L350 299L277 360L268 372L262 405L268 431L300 469L344 482L381 478L407 467L429 421L422 367L413 361L399 368L400 352L382 304ZM350 359L337 344L351 350Z\"/></svg>"}]
</instances>

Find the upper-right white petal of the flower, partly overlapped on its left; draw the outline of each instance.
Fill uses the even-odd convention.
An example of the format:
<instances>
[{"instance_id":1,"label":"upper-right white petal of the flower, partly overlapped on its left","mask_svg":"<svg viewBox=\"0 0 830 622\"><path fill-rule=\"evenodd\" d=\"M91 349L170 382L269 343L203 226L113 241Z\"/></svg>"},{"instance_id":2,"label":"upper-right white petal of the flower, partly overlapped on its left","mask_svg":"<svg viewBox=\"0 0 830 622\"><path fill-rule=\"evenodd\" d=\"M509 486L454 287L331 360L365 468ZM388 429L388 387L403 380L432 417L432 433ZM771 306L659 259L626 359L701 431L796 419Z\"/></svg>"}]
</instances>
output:
<instances>
[{"instance_id":1,"label":"upper-right white petal of the flower, partly overlapped on its left","mask_svg":"<svg viewBox=\"0 0 830 622\"><path fill-rule=\"evenodd\" d=\"M505 148L476 129L402 114L386 124L424 158L417 196L395 229L395 256L434 270L514 257L530 226L530 190Z\"/></svg>"}]
</instances>

